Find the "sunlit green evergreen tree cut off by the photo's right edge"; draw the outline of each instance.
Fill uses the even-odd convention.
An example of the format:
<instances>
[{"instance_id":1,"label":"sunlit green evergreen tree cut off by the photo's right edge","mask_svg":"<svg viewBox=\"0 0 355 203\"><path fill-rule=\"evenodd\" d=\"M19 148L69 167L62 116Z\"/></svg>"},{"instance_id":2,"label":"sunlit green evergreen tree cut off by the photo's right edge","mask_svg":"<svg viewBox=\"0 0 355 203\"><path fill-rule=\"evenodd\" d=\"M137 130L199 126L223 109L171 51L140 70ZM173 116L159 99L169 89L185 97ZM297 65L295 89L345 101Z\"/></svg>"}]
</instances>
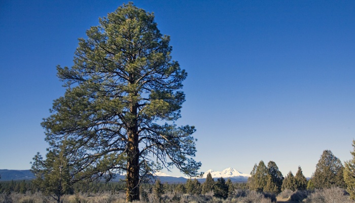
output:
<instances>
[{"instance_id":1,"label":"sunlit green evergreen tree cut off by the photo's right edge","mask_svg":"<svg viewBox=\"0 0 355 203\"><path fill-rule=\"evenodd\" d=\"M350 152L352 159L345 161L344 181L346 183L346 191L350 194L351 199L355 199L355 141L352 140L353 150Z\"/></svg>"}]
</instances>

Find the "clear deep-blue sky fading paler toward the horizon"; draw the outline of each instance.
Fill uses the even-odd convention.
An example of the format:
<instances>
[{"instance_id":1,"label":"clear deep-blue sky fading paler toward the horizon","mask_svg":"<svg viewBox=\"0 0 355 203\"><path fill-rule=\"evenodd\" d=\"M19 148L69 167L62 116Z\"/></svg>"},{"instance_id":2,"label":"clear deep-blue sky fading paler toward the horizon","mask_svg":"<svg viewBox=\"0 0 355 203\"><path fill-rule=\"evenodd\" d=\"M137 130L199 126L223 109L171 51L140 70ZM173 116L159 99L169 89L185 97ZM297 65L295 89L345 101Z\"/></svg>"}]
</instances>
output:
<instances>
[{"instance_id":1,"label":"clear deep-blue sky fading paler toward the horizon","mask_svg":"<svg viewBox=\"0 0 355 203\"><path fill-rule=\"evenodd\" d=\"M78 38L120 1L0 2L0 169L25 170L64 88ZM355 137L354 1L135 1L188 72L179 124L195 125L201 171L273 160L310 177ZM173 172L171 175L179 175Z\"/></svg>"}]
</instances>

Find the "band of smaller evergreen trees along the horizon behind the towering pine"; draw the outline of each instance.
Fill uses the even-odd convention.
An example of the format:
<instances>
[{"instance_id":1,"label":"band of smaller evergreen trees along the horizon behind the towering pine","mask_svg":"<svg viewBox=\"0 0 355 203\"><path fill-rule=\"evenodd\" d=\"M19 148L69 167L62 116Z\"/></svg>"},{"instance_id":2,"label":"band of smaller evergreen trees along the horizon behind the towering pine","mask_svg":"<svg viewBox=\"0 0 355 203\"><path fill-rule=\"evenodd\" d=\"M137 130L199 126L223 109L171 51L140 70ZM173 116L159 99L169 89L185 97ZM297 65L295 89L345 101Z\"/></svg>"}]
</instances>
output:
<instances>
[{"instance_id":1,"label":"band of smaller evergreen trees along the horizon behind the towering pine","mask_svg":"<svg viewBox=\"0 0 355 203\"><path fill-rule=\"evenodd\" d=\"M232 183L230 179L218 178L214 180L210 173L203 183L198 179L188 179L186 183L167 184L156 179L153 184L140 184L140 198L147 200L148 194L154 194L161 201L165 193L178 193L189 195L209 194L218 198L226 199L236 195L237 189L254 190L263 194L278 194L285 190L291 191L314 191L315 189L329 189L333 187L344 188L355 199L355 141L352 143L352 159L345 161L345 167L332 151L324 150L316 164L315 172L307 180L299 166L296 175L290 171L283 176L274 161L266 165L264 161L255 164L251 177L246 183ZM44 190L43 182L32 181L3 181L0 184L0 193L35 193L42 192L50 195L49 190ZM55 187L54 187L55 188ZM47 188L48 189L48 188ZM52 188L53 189L53 188ZM111 194L126 191L125 182L78 182L67 188L63 194L87 193L96 194L110 192ZM52 194L53 195L53 194Z\"/></svg>"}]
</instances>

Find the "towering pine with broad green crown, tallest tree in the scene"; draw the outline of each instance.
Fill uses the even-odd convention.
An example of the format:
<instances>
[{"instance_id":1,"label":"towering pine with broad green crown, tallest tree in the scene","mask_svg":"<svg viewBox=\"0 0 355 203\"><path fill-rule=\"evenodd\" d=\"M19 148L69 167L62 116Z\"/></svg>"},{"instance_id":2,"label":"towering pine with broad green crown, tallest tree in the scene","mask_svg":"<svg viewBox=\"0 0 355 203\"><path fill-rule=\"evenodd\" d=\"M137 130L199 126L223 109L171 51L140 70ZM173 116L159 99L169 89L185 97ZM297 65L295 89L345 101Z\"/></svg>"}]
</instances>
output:
<instances>
[{"instance_id":1,"label":"towering pine with broad green crown, tallest tree in the scene","mask_svg":"<svg viewBox=\"0 0 355 203\"><path fill-rule=\"evenodd\" d=\"M124 4L86 33L74 65L57 66L67 89L42 122L51 148L69 141L75 181L126 172L126 200L133 201L140 178L162 167L197 176L195 128L174 124L187 73L172 60L154 15Z\"/></svg>"}]
</instances>

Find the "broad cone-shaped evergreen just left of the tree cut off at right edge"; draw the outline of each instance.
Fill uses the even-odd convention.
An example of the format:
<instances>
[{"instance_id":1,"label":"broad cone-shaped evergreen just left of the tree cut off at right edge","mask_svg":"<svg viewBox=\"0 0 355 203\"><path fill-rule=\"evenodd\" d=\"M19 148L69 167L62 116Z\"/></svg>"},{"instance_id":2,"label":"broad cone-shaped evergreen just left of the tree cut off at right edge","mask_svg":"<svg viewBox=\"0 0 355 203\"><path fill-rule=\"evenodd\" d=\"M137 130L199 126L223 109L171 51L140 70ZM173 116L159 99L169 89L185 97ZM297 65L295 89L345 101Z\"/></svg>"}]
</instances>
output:
<instances>
[{"instance_id":1,"label":"broad cone-shaped evergreen just left of the tree cut off at right edge","mask_svg":"<svg viewBox=\"0 0 355 203\"><path fill-rule=\"evenodd\" d=\"M317 189L331 187L344 188L343 168L340 159L334 156L332 151L324 150L312 176L314 187Z\"/></svg>"}]
</instances>

